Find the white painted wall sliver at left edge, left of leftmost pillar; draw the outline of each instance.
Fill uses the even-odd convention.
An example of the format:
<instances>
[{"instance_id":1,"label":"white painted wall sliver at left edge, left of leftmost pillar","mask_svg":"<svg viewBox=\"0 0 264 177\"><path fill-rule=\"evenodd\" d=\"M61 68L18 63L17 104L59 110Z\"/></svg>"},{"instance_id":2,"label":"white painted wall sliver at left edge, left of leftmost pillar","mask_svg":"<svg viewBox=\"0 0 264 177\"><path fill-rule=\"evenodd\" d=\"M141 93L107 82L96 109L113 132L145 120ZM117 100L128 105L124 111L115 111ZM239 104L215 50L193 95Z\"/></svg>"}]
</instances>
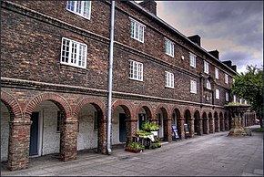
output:
<instances>
[{"instance_id":1,"label":"white painted wall sliver at left edge, left of leftmost pillar","mask_svg":"<svg viewBox=\"0 0 264 177\"><path fill-rule=\"evenodd\" d=\"M1 161L7 161L10 114L1 102Z\"/></svg>"}]
</instances>

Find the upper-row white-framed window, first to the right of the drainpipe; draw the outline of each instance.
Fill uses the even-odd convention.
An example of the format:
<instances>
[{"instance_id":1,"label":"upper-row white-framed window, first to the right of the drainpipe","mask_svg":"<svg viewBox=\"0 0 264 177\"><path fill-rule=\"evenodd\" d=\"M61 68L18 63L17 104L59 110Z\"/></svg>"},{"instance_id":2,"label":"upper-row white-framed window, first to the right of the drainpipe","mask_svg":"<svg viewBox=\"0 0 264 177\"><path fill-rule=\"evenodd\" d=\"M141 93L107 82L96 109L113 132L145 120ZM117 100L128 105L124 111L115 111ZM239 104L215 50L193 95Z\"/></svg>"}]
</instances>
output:
<instances>
[{"instance_id":1,"label":"upper-row white-framed window, first to the right of the drainpipe","mask_svg":"<svg viewBox=\"0 0 264 177\"><path fill-rule=\"evenodd\" d=\"M137 20L134 20L133 18L130 18L130 20L131 20L131 37L144 43L144 30L146 26L137 22Z\"/></svg>"}]
</instances>

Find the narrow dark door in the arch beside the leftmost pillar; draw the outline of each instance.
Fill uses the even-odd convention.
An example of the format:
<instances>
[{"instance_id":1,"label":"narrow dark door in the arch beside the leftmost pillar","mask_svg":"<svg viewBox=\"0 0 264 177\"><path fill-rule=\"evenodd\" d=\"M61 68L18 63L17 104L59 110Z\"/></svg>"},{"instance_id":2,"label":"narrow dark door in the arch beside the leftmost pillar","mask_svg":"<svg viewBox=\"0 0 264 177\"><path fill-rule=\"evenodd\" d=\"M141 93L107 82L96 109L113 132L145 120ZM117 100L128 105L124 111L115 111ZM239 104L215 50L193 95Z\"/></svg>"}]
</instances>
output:
<instances>
[{"instance_id":1,"label":"narrow dark door in the arch beside the leftmost pillar","mask_svg":"<svg viewBox=\"0 0 264 177\"><path fill-rule=\"evenodd\" d=\"M37 153L37 141L38 141L38 112L33 112L31 115L31 128L30 128L30 145L29 155L38 155Z\"/></svg>"}]
</instances>

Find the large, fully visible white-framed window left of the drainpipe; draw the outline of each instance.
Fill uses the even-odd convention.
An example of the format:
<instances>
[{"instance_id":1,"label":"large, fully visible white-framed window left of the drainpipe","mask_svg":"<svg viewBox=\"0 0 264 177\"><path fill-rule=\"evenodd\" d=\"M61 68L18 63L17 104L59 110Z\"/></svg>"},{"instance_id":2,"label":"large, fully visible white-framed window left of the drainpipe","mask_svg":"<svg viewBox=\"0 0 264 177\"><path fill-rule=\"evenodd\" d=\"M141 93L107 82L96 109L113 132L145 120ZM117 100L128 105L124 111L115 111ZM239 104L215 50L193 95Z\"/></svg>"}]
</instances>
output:
<instances>
[{"instance_id":1,"label":"large, fully visible white-framed window left of the drainpipe","mask_svg":"<svg viewBox=\"0 0 264 177\"><path fill-rule=\"evenodd\" d=\"M87 45L62 37L60 62L66 65L86 68Z\"/></svg>"}]
</instances>

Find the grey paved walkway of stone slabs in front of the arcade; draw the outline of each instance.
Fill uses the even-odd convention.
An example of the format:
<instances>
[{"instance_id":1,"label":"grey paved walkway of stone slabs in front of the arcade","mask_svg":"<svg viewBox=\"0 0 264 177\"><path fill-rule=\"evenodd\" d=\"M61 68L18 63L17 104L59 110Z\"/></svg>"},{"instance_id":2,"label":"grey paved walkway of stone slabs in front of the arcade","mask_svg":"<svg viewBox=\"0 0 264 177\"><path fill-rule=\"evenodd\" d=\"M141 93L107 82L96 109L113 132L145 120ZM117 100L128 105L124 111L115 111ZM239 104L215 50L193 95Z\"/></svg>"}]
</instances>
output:
<instances>
[{"instance_id":1,"label":"grey paved walkway of stone slabs in front of the arcade","mask_svg":"<svg viewBox=\"0 0 264 177\"><path fill-rule=\"evenodd\" d=\"M142 153L114 148L111 155L80 151L76 161L49 155L31 158L28 169L1 176L263 176L263 132L228 137L228 131L162 144Z\"/></svg>"}]
</instances>

